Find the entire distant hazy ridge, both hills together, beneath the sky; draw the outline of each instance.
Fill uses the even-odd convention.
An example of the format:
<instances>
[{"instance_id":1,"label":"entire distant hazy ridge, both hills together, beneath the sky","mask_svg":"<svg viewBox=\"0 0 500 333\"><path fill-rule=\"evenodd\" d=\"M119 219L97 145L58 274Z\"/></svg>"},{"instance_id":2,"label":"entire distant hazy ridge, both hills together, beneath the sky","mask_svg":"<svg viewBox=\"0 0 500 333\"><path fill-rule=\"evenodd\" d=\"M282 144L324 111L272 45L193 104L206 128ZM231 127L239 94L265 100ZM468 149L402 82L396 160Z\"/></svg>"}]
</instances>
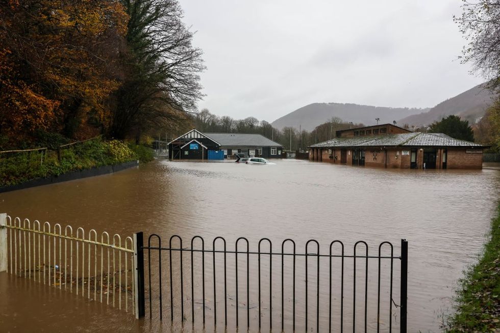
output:
<instances>
[{"instance_id":1,"label":"entire distant hazy ridge, both hills together, beneath the sky","mask_svg":"<svg viewBox=\"0 0 500 333\"><path fill-rule=\"evenodd\" d=\"M408 107L379 107L359 105L352 103L312 103L273 121L271 125L276 128L286 126L302 128L308 131L316 126L338 117L345 122L376 124L375 118L380 118L380 123L392 123L398 126L430 125L449 115L460 116L470 124L480 119L486 109L493 103L492 94L481 85L469 89L453 98L449 98L432 108Z\"/></svg>"}]
</instances>

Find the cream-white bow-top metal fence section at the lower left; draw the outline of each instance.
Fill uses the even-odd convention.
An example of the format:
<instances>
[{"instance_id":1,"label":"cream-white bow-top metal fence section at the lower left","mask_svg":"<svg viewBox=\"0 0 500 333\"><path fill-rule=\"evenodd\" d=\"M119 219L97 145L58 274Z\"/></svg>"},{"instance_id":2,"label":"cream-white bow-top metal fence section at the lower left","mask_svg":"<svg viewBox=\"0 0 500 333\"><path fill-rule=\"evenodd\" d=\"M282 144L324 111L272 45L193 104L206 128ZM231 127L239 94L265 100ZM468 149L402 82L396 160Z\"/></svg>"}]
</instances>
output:
<instances>
[{"instance_id":1,"label":"cream-white bow-top metal fence section at the lower left","mask_svg":"<svg viewBox=\"0 0 500 333\"><path fill-rule=\"evenodd\" d=\"M98 239L99 238L99 239ZM33 279L135 314L132 237L0 214L0 272Z\"/></svg>"}]
</instances>

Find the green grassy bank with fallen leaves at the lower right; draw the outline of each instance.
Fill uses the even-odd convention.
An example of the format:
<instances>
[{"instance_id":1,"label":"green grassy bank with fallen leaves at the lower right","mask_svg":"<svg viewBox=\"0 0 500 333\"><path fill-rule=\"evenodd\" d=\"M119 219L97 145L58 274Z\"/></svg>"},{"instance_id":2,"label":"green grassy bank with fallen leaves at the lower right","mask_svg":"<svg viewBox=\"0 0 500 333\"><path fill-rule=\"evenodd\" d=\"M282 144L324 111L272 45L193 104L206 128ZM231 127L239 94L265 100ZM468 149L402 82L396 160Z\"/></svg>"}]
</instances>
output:
<instances>
[{"instance_id":1,"label":"green grassy bank with fallen leaves at the lower right","mask_svg":"<svg viewBox=\"0 0 500 333\"><path fill-rule=\"evenodd\" d=\"M461 281L447 332L500 332L500 205L479 262Z\"/></svg>"}]
</instances>

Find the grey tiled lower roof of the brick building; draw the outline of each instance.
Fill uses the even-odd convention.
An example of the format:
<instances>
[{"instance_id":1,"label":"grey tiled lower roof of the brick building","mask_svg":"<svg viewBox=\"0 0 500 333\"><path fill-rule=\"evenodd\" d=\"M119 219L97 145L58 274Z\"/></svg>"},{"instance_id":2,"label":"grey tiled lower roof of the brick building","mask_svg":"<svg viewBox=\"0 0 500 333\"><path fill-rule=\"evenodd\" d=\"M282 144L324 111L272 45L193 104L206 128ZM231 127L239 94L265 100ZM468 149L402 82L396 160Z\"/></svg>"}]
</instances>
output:
<instances>
[{"instance_id":1,"label":"grey tiled lower roof of the brick building","mask_svg":"<svg viewBox=\"0 0 500 333\"><path fill-rule=\"evenodd\" d=\"M402 133L377 136L338 137L312 145L319 147L381 147L381 146L439 146L482 147L464 140L454 139L444 133Z\"/></svg>"}]
</instances>

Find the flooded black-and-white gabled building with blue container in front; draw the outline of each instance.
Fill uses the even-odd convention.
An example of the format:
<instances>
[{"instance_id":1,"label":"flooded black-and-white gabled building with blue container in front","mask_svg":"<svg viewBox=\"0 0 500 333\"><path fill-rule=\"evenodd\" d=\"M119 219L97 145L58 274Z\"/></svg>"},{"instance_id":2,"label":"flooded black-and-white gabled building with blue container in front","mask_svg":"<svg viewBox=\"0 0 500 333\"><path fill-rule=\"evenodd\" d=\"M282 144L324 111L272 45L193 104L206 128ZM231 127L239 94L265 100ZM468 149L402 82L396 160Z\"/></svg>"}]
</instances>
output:
<instances>
[{"instance_id":1,"label":"flooded black-and-white gabled building with blue container in front","mask_svg":"<svg viewBox=\"0 0 500 333\"><path fill-rule=\"evenodd\" d=\"M224 159L235 153L281 157L283 146L261 134L202 133L196 129L168 143L169 159Z\"/></svg>"}]
</instances>

